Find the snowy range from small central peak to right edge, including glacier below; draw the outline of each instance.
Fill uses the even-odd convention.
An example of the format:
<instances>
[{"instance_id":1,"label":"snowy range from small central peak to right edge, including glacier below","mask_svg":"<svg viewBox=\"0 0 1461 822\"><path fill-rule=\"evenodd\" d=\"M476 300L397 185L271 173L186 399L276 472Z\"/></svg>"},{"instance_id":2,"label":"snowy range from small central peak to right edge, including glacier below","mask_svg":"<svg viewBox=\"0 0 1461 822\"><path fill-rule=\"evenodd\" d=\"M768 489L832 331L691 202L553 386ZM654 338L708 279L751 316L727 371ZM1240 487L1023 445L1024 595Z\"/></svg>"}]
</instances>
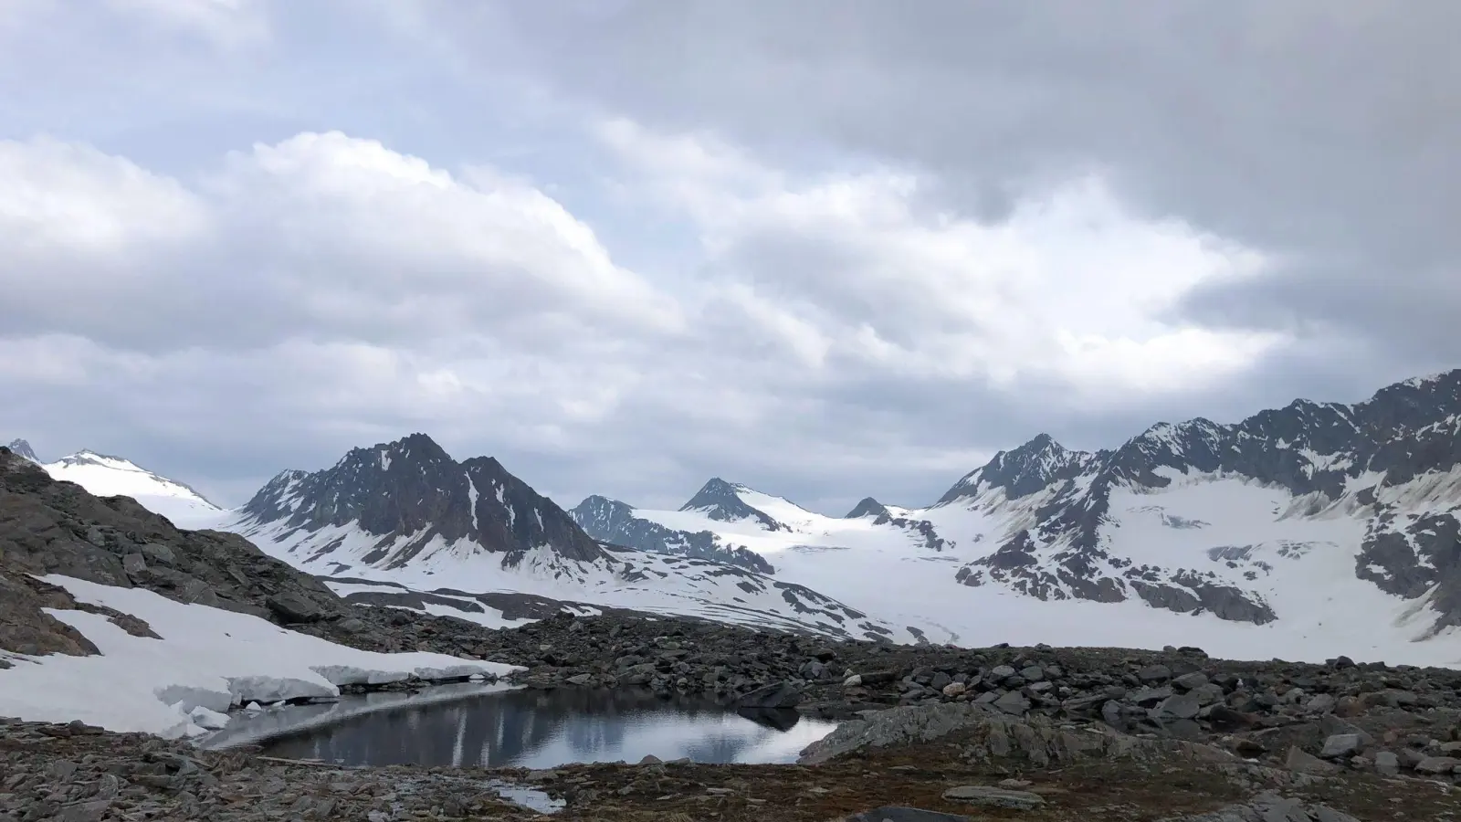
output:
<instances>
[{"instance_id":1,"label":"snowy range from small central peak to right edge, including glacier below","mask_svg":"<svg viewBox=\"0 0 1461 822\"><path fill-rule=\"evenodd\" d=\"M1461 370L1107 450L1040 434L923 509L707 489L615 528L709 531L934 641L1461 664Z\"/></svg>"}]
</instances>

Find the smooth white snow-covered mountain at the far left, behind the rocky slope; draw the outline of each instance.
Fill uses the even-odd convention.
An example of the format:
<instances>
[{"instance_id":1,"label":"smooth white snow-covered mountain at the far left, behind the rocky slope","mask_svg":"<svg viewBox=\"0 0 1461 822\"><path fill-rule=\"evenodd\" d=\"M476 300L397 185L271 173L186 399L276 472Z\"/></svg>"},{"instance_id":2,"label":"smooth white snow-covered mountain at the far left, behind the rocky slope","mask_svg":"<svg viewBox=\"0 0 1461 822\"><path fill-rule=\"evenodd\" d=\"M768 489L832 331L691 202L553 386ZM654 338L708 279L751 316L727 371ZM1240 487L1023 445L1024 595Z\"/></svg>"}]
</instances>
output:
<instances>
[{"instance_id":1,"label":"smooth white snow-covered mountain at the far left, behind the rocky slope","mask_svg":"<svg viewBox=\"0 0 1461 822\"><path fill-rule=\"evenodd\" d=\"M56 462L41 462L31 443L22 439L13 440L10 450L39 464L53 480L76 483L99 497L131 497L148 510L161 513L183 528L216 521L224 513L224 509L186 484L153 474L120 456L77 450Z\"/></svg>"}]
</instances>

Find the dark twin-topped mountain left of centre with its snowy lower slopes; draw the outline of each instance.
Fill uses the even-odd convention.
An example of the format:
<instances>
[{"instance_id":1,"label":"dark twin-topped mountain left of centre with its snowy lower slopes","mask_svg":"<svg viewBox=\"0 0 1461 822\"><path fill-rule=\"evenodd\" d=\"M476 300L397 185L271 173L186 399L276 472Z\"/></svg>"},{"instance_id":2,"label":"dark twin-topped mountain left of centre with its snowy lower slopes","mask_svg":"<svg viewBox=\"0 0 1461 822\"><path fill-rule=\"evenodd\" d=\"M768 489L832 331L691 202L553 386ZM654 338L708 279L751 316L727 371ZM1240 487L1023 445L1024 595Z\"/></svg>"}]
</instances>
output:
<instances>
[{"instance_id":1,"label":"dark twin-topped mountain left of centre with its snowy lower slopes","mask_svg":"<svg viewBox=\"0 0 1461 822\"><path fill-rule=\"evenodd\" d=\"M494 625L510 622L494 597L514 594L580 613L617 607L830 636L915 636L748 568L600 544L495 459L456 462L425 434L356 448L324 471L285 471L219 527L333 579L340 594L397 597Z\"/></svg>"}]
</instances>

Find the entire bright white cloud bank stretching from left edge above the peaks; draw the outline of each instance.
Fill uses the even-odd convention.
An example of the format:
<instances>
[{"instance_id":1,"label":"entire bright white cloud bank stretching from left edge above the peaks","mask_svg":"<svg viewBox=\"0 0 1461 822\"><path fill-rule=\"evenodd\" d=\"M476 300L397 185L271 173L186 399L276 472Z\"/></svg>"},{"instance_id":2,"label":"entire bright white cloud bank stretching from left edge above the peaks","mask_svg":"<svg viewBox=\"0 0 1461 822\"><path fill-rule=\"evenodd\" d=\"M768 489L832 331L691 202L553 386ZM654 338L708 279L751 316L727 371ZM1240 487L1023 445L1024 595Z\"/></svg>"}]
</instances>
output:
<instances>
[{"instance_id":1,"label":"entire bright white cloud bank stretching from left edge above the peaks","mask_svg":"<svg viewBox=\"0 0 1461 822\"><path fill-rule=\"evenodd\" d=\"M25 184L0 199L0 235L31 249L0 274L6 376L67 398L77 429L235 453L244 474L297 465L302 442L320 455L421 429L561 462L549 490L580 496L656 453L685 486L732 470L785 483L787 459L809 483L890 452L884 474L958 474L977 449L910 434L947 410L899 392L974 386L961 414L979 420L1030 380L1110 401L1261 350L1153 319L1261 260L1131 218L1097 180L980 224L928 208L916 174L808 176L710 135L592 130L644 208L688 222L704 276L624 268L527 180L342 133L235 151L193 180L4 143ZM874 382L887 391L849 393Z\"/></svg>"}]
</instances>

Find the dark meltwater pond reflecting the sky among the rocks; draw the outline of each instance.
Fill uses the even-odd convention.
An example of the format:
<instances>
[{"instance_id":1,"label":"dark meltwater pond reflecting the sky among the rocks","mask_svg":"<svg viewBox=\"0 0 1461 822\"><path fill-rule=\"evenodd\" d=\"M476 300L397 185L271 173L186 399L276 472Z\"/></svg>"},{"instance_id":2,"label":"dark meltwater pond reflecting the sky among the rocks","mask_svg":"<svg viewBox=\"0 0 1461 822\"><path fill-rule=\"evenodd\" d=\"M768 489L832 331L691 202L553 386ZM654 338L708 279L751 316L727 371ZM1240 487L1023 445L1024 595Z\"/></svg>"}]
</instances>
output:
<instances>
[{"instance_id":1,"label":"dark meltwater pond reflecting the sky among the rocks","mask_svg":"<svg viewBox=\"0 0 1461 822\"><path fill-rule=\"evenodd\" d=\"M570 762L792 762L836 723L796 711L736 712L647 690L443 686L237 717L209 747L342 765L552 768Z\"/></svg>"}]
</instances>

